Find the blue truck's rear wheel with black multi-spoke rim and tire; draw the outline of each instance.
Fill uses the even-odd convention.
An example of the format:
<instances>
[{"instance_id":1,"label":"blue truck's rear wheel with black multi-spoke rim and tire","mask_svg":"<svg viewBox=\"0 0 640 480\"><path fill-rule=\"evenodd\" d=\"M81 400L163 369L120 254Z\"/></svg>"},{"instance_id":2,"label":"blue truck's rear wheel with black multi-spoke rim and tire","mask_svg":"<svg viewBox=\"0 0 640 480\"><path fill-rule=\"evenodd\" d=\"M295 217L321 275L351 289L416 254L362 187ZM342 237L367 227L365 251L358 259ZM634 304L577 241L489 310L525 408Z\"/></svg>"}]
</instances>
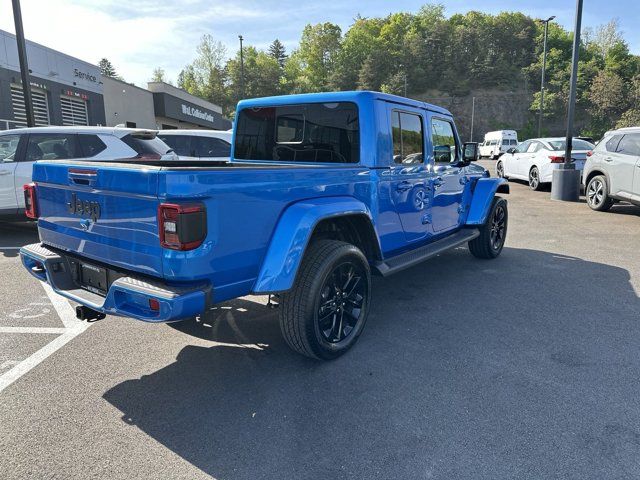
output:
<instances>
[{"instance_id":1,"label":"blue truck's rear wheel with black multi-spoke rim and tire","mask_svg":"<svg viewBox=\"0 0 640 480\"><path fill-rule=\"evenodd\" d=\"M337 240L314 242L293 288L282 294L282 335L302 355L337 358L360 337L370 298L371 271L362 251Z\"/></svg>"}]
</instances>

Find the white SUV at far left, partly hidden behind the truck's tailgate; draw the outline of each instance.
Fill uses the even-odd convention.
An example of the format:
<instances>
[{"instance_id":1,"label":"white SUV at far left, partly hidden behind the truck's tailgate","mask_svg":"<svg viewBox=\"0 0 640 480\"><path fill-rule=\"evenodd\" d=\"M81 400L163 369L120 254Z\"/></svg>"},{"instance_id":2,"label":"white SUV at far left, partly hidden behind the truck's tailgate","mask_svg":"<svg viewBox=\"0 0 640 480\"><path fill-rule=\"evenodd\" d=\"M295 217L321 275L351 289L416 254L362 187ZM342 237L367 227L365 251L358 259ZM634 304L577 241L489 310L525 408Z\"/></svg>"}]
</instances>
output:
<instances>
[{"instance_id":1,"label":"white SUV at far left, partly hidden behind the truck's tailgate","mask_svg":"<svg viewBox=\"0 0 640 480\"><path fill-rule=\"evenodd\" d=\"M155 130L34 127L0 131L0 216L24 211L23 186L38 160L177 160Z\"/></svg>"}]
</instances>

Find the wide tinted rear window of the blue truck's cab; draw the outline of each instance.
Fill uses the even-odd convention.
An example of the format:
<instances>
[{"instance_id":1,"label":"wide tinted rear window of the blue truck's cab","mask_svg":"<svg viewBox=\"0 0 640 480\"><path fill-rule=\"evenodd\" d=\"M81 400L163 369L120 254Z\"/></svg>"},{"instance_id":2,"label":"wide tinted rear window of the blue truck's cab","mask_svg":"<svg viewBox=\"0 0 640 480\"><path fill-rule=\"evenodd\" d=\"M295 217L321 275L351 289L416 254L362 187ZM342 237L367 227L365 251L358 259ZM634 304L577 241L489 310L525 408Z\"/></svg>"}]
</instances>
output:
<instances>
[{"instance_id":1,"label":"wide tinted rear window of the blue truck's cab","mask_svg":"<svg viewBox=\"0 0 640 480\"><path fill-rule=\"evenodd\" d=\"M246 108L238 114L235 142L240 160L357 163L358 107L336 102Z\"/></svg>"}]
</instances>

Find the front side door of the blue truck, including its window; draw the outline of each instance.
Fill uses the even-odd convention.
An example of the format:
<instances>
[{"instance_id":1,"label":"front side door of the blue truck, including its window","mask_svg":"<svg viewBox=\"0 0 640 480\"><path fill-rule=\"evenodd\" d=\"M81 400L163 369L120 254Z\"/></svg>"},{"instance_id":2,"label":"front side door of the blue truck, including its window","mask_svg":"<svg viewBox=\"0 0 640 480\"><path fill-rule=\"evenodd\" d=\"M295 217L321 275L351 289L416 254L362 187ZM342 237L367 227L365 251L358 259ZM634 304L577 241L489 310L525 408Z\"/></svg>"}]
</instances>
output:
<instances>
[{"instance_id":1,"label":"front side door of the blue truck, including its window","mask_svg":"<svg viewBox=\"0 0 640 480\"><path fill-rule=\"evenodd\" d=\"M433 231L443 233L460 226L462 195L467 180L462 174L462 169L456 166L462 157L462 150L450 120L431 117L431 146Z\"/></svg>"}]
</instances>

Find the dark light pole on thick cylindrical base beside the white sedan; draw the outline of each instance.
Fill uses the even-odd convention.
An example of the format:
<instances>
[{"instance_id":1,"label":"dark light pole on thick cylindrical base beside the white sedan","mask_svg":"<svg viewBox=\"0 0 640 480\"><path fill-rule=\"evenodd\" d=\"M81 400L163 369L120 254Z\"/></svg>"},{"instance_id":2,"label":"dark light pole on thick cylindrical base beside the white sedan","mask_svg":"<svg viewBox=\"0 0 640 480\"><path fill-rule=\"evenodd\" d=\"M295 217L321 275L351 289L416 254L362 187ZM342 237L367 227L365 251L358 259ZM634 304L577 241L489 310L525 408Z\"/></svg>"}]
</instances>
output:
<instances>
[{"instance_id":1,"label":"dark light pole on thick cylindrical base beside the white sedan","mask_svg":"<svg viewBox=\"0 0 640 480\"><path fill-rule=\"evenodd\" d=\"M571 161L573 144L573 117L576 110L576 81L578 77L578 59L580 56L580 29L582 28L582 0L576 0L576 21L573 29L573 57L571 59L571 84L569 87L569 105L567 107L567 138L564 151L564 163L553 171L551 198L577 202L580 198L580 170L576 170Z\"/></svg>"}]
</instances>

